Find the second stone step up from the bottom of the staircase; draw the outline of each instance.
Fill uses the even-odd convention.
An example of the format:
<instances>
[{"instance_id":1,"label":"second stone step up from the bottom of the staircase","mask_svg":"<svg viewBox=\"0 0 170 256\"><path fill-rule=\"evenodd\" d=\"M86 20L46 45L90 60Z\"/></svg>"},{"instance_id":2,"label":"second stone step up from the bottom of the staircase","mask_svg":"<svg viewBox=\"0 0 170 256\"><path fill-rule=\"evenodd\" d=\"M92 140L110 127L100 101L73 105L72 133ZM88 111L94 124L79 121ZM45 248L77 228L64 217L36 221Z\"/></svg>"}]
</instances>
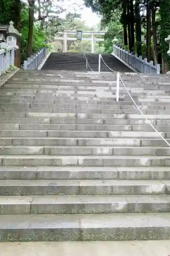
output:
<instances>
[{"instance_id":1,"label":"second stone step up from the bottom of the staircase","mask_svg":"<svg viewBox=\"0 0 170 256\"><path fill-rule=\"evenodd\" d=\"M0 196L1 215L170 212L170 196Z\"/></svg>"}]
</instances>

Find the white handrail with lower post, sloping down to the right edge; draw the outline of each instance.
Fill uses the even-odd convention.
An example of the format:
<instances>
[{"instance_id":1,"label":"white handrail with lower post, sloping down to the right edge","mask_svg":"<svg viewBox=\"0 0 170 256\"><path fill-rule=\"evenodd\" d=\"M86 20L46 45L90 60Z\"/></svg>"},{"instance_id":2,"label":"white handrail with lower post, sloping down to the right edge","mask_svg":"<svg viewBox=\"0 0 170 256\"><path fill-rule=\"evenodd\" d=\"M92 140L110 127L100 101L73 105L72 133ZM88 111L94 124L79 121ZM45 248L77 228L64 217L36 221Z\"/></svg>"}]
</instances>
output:
<instances>
[{"instance_id":1,"label":"white handrail with lower post, sloping down to the right edge","mask_svg":"<svg viewBox=\"0 0 170 256\"><path fill-rule=\"evenodd\" d=\"M104 62L105 63L105 62ZM105 63L106 65L106 63ZM106 67L108 67L108 65L106 65ZM135 104L136 108L139 110L139 112L141 113L141 115L145 118L145 120L147 120L147 122L152 126L152 128L154 129L154 131L161 137L161 139L164 140L164 142L170 147L170 144L167 142L167 140L165 138L163 138L163 136L156 130L156 128L153 126L153 124L150 122L150 120L143 114L143 112L139 109L138 105L136 104L136 102L134 101L133 97L131 96L130 92L128 91L128 89L125 86L125 83L122 79L122 77L120 76L119 72L116 72L114 70L112 70L111 68L109 68L111 71L117 73L117 84L116 84L116 101L118 101L117 96L119 96L119 79L122 81L127 93L129 94L131 100L133 101L133 103Z\"/></svg>"}]
</instances>

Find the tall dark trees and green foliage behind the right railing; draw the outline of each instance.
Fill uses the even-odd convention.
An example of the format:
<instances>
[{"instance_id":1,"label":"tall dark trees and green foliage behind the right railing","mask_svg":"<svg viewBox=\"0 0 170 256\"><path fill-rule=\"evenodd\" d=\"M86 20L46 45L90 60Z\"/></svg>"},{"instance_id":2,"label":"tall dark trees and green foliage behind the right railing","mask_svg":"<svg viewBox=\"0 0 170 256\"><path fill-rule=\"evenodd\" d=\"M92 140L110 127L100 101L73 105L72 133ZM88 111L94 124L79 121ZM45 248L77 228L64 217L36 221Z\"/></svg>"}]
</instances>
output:
<instances>
[{"instance_id":1,"label":"tall dark trees and green foliage behind the right railing","mask_svg":"<svg viewBox=\"0 0 170 256\"><path fill-rule=\"evenodd\" d=\"M147 57L148 61L161 63L162 72L166 72L169 57L164 39L170 34L170 0L85 0L85 3L103 16L103 27L108 29L104 51L110 52L111 38L116 36L120 45Z\"/></svg>"}]
</instances>

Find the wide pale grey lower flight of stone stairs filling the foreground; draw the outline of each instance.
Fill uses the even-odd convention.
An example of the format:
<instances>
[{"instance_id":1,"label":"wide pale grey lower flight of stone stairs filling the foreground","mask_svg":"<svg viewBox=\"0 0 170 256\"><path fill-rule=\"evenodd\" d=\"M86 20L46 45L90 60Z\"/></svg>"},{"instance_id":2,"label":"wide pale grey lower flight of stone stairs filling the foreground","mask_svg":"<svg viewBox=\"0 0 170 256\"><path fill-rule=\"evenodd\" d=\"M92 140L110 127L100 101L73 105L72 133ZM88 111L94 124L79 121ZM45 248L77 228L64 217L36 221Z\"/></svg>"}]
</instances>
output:
<instances>
[{"instance_id":1,"label":"wide pale grey lower flight of stone stairs filling the foreground","mask_svg":"<svg viewBox=\"0 0 170 256\"><path fill-rule=\"evenodd\" d=\"M169 77L122 74L170 142ZM116 75L18 71L0 92L0 241L169 239L170 149Z\"/></svg>"}]
</instances>

